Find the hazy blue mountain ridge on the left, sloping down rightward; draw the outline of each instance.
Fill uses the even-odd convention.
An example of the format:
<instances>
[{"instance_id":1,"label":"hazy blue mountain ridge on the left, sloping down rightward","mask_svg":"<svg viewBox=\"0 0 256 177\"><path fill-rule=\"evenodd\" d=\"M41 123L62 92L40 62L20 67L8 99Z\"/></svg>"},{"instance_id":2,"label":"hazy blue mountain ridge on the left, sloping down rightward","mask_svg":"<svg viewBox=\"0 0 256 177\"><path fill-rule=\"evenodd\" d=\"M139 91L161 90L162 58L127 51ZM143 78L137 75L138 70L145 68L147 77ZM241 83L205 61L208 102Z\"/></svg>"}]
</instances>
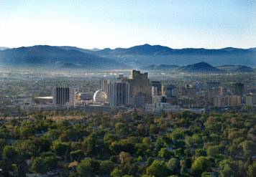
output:
<instances>
[{"instance_id":1,"label":"hazy blue mountain ridge on the left, sloping down rightward","mask_svg":"<svg viewBox=\"0 0 256 177\"><path fill-rule=\"evenodd\" d=\"M87 69L126 68L127 64L78 49L39 45L0 51L0 63L6 65L81 67Z\"/></svg>"}]
</instances>

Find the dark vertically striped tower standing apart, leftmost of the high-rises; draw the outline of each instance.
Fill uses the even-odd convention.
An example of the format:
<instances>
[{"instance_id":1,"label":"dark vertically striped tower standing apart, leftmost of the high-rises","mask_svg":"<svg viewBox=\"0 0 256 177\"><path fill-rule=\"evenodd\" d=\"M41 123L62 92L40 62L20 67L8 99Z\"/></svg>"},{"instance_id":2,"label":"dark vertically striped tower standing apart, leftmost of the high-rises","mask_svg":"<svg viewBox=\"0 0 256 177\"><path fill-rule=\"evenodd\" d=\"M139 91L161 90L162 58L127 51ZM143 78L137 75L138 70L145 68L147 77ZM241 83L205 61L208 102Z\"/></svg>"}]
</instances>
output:
<instances>
[{"instance_id":1,"label":"dark vertically striped tower standing apart, leftmost of the high-rises","mask_svg":"<svg viewBox=\"0 0 256 177\"><path fill-rule=\"evenodd\" d=\"M55 105L73 106L74 90L70 87L55 87L53 89L53 103Z\"/></svg>"}]
</instances>

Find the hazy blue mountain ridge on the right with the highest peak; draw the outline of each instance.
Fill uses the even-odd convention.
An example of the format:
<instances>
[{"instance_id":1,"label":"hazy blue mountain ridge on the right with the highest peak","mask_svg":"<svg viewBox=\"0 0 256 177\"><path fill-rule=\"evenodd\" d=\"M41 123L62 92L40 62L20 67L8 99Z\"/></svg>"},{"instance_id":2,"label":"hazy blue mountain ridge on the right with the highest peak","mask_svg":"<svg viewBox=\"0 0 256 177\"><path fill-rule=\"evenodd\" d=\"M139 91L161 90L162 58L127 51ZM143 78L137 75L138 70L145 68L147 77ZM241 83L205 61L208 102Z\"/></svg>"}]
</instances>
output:
<instances>
[{"instance_id":1,"label":"hazy blue mountain ridge on the right with the highest peak","mask_svg":"<svg viewBox=\"0 0 256 177\"><path fill-rule=\"evenodd\" d=\"M214 66L229 64L256 67L255 48L172 49L161 45L144 44L129 48L106 48L93 53L132 64L134 67L143 67L148 64L186 65L202 60Z\"/></svg>"}]
</instances>

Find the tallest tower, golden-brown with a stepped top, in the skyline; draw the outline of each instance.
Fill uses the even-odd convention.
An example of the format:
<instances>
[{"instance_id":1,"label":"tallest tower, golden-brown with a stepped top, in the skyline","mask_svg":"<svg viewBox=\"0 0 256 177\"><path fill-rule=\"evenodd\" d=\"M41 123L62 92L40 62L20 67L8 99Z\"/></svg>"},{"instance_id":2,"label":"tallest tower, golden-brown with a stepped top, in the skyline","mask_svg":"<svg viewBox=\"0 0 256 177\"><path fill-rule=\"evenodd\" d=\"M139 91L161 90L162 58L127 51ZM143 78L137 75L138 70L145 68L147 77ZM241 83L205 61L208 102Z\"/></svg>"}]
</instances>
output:
<instances>
[{"instance_id":1,"label":"tallest tower, golden-brown with a stepped top, in the skyline","mask_svg":"<svg viewBox=\"0 0 256 177\"><path fill-rule=\"evenodd\" d=\"M152 103L152 88L150 80L147 78L147 72L132 70L129 76L129 95L131 97L144 97L145 103ZM134 98L136 100L136 98Z\"/></svg>"}]
</instances>

